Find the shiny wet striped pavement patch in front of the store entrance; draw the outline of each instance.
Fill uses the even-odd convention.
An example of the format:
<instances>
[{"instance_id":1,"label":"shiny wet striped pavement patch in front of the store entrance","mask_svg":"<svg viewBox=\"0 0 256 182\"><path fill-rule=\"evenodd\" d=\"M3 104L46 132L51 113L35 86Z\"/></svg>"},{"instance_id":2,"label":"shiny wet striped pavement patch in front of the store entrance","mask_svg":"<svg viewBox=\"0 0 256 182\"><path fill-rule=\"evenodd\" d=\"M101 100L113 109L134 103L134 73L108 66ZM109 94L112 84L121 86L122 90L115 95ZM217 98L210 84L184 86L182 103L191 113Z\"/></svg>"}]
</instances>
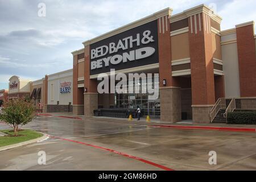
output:
<instances>
[{"instance_id":1,"label":"shiny wet striped pavement patch in front of the store entrance","mask_svg":"<svg viewBox=\"0 0 256 182\"><path fill-rule=\"evenodd\" d=\"M57 117L38 117L24 126L26 129L40 131L48 135L63 138L94 137L99 135L126 133L151 129L142 125L94 121L93 119L79 120Z\"/></svg>"}]
</instances>

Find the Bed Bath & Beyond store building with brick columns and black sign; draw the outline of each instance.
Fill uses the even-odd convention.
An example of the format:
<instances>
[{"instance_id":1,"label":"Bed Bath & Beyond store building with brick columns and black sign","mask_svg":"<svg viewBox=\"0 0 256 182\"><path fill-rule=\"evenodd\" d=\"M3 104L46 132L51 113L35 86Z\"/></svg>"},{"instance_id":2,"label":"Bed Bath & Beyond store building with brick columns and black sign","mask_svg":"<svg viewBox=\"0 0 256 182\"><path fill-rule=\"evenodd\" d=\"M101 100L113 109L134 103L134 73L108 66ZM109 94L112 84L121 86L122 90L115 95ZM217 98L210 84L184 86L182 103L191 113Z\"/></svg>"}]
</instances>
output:
<instances>
[{"instance_id":1,"label":"Bed Bath & Beyond store building with brick columns and black sign","mask_svg":"<svg viewBox=\"0 0 256 182\"><path fill-rule=\"evenodd\" d=\"M205 5L176 15L167 8L85 41L82 49L72 52L73 113L92 116L98 108L136 109L139 105L162 121L181 121L185 113L193 122L208 123L220 98L229 102L242 98L240 107L248 102L245 107L253 109L254 22L221 31L221 20ZM154 82L159 97L98 93L98 76L106 73L110 78L110 69L126 75L158 73Z\"/></svg>"}]
</instances>

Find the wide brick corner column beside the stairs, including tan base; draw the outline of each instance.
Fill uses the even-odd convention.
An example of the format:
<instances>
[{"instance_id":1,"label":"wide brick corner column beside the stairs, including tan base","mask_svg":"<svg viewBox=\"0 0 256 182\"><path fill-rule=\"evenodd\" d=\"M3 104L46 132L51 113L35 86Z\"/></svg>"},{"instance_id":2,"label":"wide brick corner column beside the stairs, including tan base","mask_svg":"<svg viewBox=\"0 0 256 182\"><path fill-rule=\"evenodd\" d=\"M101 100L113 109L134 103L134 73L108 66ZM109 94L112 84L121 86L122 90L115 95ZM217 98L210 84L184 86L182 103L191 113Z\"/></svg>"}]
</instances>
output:
<instances>
[{"instance_id":1,"label":"wide brick corner column beside the stairs, including tan base","mask_svg":"<svg viewBox=\"0 0 256 182\"><path fill-rule=\"evenodd\" d=\"M188 21L193 122L209 123L209 111L215 103L210 17L199 13L189 16Z\"/></svg>"}]
</instances>

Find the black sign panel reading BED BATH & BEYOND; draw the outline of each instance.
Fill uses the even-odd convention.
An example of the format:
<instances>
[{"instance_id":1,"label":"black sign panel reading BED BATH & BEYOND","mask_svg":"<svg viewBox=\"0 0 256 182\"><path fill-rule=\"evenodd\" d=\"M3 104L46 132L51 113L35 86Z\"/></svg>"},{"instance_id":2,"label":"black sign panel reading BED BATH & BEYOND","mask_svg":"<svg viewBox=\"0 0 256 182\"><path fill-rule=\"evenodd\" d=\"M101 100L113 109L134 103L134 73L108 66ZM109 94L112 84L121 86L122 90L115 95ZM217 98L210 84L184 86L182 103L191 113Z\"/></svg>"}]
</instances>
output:
<instances>
[{"instance_id":1,"label":"black sign panel reading BED BATH & BEYOND","mask_svg":"<svg viewBox=\"0 0 256 182\"><path fill-rule=\"evenodd\" d=\"M158 63L158 22L90 45L90 75Z\"/></svg>"}]
</instances>

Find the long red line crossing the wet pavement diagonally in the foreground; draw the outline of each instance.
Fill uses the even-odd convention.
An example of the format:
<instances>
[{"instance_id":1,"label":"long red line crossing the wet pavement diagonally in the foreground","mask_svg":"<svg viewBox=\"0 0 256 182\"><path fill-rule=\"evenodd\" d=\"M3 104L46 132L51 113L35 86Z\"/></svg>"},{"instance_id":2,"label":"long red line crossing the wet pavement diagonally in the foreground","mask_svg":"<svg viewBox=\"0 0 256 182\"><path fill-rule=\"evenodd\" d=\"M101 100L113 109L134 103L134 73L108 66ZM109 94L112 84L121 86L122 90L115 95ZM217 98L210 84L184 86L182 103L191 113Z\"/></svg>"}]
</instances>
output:
<instances>
[{"instance_id":1,"label":"long red line crossing the wet pavement diagonally in the foreground","mask_svg":"<svg viewBox=\"0 0 256 182\"><path fill-rule=\"evenodd\" d=\"M143 163L146 163L146 164L150 164L152 166L155 166L155 167L158 167L158 168L161 168L161 169L164 169L166 171L174 171L174 169L171 169L171 168L168 168L168 167L165 167L165 166L162 166L160 164L156 164L156 163L153 163L149 160L145 160L145 159L142 159L142 158L138 158L136 156L132 156L132 155L129 155L129 154L125 154L123 152L118 152L118 151L115 151L115 150L112 150L110 148L105 148L105 147L100 147L100 146L95 146L93 144L89 144L89 143L84 143L84 142L79 142L79 141L76 141L76 140L71 140L71 139L65 139L65 138L60 138L60 137L52 137L50 135L47 135L48 137L51 137L51 138L57 138L57 139L61 139L61 140L66 140L68 142L75 142L75 143L79 143L79 144L84 144L85 146L89 146L89 147L93 147L93 148L98 148L100 150L104 150L104 151L108 151L108 152L113 152L115 154L119 154L119 155L122 155L122 156L126 156L127 158L131 158L131 159L135 159L135 160L139 160Z\"/></svg>"}]
</instances>

